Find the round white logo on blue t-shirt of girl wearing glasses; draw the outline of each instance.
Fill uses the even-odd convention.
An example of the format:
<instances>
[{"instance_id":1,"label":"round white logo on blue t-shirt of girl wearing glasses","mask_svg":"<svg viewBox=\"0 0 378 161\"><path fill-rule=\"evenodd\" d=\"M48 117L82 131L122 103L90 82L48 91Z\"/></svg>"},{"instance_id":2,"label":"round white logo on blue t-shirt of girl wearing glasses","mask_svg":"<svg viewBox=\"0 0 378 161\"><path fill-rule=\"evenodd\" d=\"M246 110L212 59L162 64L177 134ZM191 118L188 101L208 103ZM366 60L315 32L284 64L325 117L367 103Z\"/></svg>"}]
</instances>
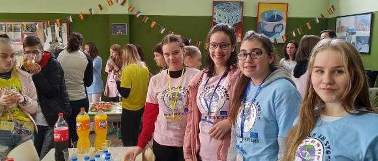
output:
<instances>
[{"instance_id":1,"label":"round white logo on blue t-shirt of girl wearing glasses","mask_svg":"<svg viewBox=\"0 0 378 161\"><path fill-rule=\"evenodd\" d=\"M254 103L252 102L245 102L244 105L241 106L240 112L237 117L237 125L240 128L240 123L242 121L242 112L244 108L244 129L243 132L248 132L253 128L253 125L256 121L256 115L257 115L257 108Z\"/></svg>"}]
</instances>

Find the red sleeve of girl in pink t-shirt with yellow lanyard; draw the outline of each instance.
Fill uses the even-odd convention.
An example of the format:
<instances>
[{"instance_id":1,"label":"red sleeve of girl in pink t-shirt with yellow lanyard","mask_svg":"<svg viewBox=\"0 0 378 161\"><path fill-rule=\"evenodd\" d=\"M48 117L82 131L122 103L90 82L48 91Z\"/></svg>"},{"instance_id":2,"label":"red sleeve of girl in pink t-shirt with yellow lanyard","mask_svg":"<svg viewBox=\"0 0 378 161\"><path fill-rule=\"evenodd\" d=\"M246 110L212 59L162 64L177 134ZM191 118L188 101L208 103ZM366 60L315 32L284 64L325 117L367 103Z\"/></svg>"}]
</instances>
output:
<instances>
[{"instance_id":1,"label":"red sleeve of girl in pink t-shirt with yellow lanyard","mask_svg":"<svg viewBox=\"0 0 378 161\"><path fill-rule=\"evenodd\" d=\"M144 149L152 138L152 133L155 130L155 121L159 114L159 105L146 102L146 107L143 113L143 128L138 138L137 146Z\"/></svg>"}]
</instances>

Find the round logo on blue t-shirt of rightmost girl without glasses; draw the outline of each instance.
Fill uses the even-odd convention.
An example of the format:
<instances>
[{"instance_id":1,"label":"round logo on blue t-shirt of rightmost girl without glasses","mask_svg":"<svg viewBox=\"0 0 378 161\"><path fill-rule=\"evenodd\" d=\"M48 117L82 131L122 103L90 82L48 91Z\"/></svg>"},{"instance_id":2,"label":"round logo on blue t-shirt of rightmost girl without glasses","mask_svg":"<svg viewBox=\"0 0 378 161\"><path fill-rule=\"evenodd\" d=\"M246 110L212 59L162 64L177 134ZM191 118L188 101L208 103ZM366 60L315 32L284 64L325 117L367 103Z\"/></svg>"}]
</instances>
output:
<instances>
[{"instance_id":1,"label":"round logo on blue t-shirt of rightmost girl without glasses","mask_svg":"<svg viewBox=\"0 0 378 161\"><path fill-rule=\"evenodd\" d=\"M323 144L316 138L306 138L299 144L294 161L322 161Z\"/></svg>"}]
</instances>

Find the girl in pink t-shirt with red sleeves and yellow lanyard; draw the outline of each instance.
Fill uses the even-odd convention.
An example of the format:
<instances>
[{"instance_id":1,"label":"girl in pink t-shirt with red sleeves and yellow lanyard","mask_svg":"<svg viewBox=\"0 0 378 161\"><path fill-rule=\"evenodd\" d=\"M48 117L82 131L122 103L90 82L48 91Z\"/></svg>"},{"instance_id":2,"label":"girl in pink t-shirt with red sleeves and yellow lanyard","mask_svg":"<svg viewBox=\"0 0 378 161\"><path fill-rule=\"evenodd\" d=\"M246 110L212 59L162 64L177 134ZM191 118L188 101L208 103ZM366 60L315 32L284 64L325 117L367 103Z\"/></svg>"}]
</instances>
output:
<instances>
[{"instance_id":1,"label":"girl in pink t-shirt with red sleeves and yellow lanyard","mask_svg":"<svg viewBox=\"0 0 378 161\"><path fill-rule=\"evenodd\" d=\"M183 41L178 35L167 35L162 40L163 56L168 65L150 79L143 129L137 147L130 150L125 160L135 160L153 134L156 161L183 161L183 139L188 111L188 85L199 70L184 67Z\"/></svg>"}]
</instances>

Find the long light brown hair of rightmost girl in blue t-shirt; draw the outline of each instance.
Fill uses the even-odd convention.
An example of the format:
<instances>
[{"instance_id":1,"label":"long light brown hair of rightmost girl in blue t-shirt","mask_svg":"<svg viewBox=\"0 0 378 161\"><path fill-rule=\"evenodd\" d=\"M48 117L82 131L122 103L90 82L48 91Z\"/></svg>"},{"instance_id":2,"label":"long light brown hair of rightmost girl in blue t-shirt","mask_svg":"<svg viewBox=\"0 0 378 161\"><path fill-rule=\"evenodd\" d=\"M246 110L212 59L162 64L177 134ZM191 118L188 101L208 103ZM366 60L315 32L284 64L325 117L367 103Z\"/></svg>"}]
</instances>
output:
<instances>
[{"instance_id":1,"label":"long light brown hair of rightmost girl in blue t-shirt","mask_svg":"<svg viewBox=\"0 0 378 161\"><path fill-rule=\"evenodd\" d=\"M310 134L319 118L319 114L322 112L321 107L324 102L315 92L310 80L316 55L327 49L335 50L340 53L344 64L345 74L347 75L348 85L345 93L341 97L341 106L345 111L355 115L377 113L376 109L372 108L369 100L369 89L359 52L352 46L352 44L342 39L321 40L314 47L308 63L307 93L301 104L299 120L290 130L287 137L287 153L283 159L285 161L294 160L297 147L307 135ZM318 112L314 109L315 107L319 107Z\"/></svg>"}]
</instances>

